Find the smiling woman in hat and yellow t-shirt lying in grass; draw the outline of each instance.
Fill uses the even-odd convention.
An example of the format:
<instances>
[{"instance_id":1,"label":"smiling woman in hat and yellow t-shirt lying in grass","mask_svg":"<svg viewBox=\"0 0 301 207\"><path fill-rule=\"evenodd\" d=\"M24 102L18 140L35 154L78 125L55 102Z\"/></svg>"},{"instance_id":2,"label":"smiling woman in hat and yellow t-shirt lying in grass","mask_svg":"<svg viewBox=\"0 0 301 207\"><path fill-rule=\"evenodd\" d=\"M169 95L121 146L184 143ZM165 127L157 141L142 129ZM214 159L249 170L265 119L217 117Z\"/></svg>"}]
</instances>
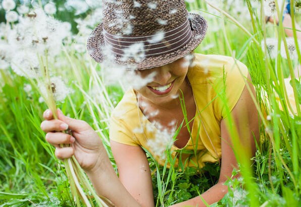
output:
<instances>
[{"instance_id":1,"label":"smiling woman in hat and yellow t-shirt lying in grass","mask_svg":"<svg viewBox=\"0 0 301 207\"><path fill-rule=\"evenodd\" d=\"M185 162L202 168L206 162L221 160L219 182L202 194L208 203L220 200L227 192L224 181L237 167L226 126L228 115L249 156L255 151L254 137L259 137L257 111L245 86L249 84L246 67L229 57L199 54L194 55L194 66L187 64L187 55L203 40L207 23L199 15L188 14L184 1L104 1L103 7L103 23L88 39L91 57L97 62L110 58L135 70L140 79L152 77L144 86L127 91L112 113L110 140L119 178L101 140L86 122L61 111L59 119L53 120L52 112L46 110L41 123L46 140L56 146L58 158L74 154L97 193L116 206L154 206L150 170L141 146L163 164L164 157L147 143L157 135L162 138L163 130L179 128L171 147L176 165ZM105 57L107 51L109 57ZM187 118L178 96L184 99ZM73 136L60 132L67 128ZM62 143L71 146L60 148ZM182 153L179 160L181 149L194 154ZM182 205L204 203L198 196L174 206Z\"/></svg>"}]
</instances>

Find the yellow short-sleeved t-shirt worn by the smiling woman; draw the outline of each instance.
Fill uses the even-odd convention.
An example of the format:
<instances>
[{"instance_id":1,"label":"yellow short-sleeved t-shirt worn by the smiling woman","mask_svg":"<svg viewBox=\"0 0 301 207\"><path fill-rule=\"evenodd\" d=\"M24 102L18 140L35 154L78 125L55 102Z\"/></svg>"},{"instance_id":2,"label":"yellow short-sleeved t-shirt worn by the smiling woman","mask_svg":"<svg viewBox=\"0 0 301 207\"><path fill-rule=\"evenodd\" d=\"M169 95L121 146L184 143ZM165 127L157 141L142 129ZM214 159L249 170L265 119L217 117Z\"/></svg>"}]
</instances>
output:
<instances>
[{"instance_id":1,"label":"yellow short-sleeved t-shirt worn by the smiling woman","mask_svg":"<svg viewBox=\"0 0 301 207\"><path fill-rule=\"evenodd\" d=\"M241 62L226 56L195 54L194 63L187 73L196 104L191 137L181 149L171 145L171 151L176 166L180 159L184 166L202 168L206 162L221 158L220 122L238 101L248 71ZM165 138L162 129L150 123L139 109L134 90L128 90L112 112L110 139L142 146L164 165L166 158L159 156L147 142L158 134Z\"/></svg>"}]
</instances>

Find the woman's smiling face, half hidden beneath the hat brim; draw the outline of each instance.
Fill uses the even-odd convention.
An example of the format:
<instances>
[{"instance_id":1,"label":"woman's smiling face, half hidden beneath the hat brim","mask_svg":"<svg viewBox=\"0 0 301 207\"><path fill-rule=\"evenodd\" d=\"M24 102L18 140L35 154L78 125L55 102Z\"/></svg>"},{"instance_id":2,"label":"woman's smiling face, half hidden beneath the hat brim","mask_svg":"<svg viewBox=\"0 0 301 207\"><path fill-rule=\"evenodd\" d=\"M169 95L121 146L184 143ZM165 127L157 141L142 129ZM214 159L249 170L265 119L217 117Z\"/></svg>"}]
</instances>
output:
<instances>
[{"instance_id":1,"label":"woman's smiling face, half hidden beneath the hat brim","mask_svg":"<svg viewBox=\"0 0 301 207\"><path fill-rule=\"evenodd\" d=\"M155 75L152 82L147 83L136 91L157 105L167 103L178 96L179 89L182 91L186 89L187 83L185 77L188 65L187 59L181 58L161 67L139 70L137 74L141 78Z\"/></svg>"}]
</instances>

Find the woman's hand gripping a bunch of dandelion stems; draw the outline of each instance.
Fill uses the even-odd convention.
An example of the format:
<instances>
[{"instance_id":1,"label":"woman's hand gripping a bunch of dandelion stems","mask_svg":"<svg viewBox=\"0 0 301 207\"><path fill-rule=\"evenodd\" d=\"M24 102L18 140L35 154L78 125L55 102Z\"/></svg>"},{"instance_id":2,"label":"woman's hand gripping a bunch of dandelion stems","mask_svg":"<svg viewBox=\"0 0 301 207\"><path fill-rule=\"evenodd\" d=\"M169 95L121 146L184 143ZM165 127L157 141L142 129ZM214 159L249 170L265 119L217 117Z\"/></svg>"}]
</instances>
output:
<instances>
[{"instance_id":1,"label":"woman's hand gripping a bunch of dandelion stems","mask_svg":"<svg viewBox=\"0 0 301 207\"><path fill-rule=\"evenodd\" d=\"M74 154L85 171L93 171L106 153L98 134L84 121L66 117L61 110L57 114L58 119L53 119L52 111L46 110L43 114L45 121L41 123L46 140L56 147L56 157L66 159ZM63 132L67 129L72 130L71 135ZM61 144L70 146L61 147Z\"/></svg>"}]
</instances>

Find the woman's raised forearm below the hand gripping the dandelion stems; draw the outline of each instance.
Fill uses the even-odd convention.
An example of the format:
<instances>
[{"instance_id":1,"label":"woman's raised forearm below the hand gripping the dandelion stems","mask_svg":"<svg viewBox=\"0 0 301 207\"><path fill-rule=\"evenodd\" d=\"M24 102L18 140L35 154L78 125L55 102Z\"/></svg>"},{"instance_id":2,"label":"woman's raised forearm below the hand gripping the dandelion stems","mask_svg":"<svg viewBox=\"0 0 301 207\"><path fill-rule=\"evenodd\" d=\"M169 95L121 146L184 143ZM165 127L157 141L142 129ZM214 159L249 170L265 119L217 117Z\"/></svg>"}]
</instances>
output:
<instances>
[{"instance_id":1,"label":"woman's raised forearm below the hand gripping the dandelion stems","mask_svg":"<svg viewBox=\"0 0 301 207\"><path fill-rule=\"evenodd\" d=\"M96 193L108 198L115 206L140 206L122 185L108 156L105 156L99 167L86 172Z\"/></svg>"}]
</instances>

